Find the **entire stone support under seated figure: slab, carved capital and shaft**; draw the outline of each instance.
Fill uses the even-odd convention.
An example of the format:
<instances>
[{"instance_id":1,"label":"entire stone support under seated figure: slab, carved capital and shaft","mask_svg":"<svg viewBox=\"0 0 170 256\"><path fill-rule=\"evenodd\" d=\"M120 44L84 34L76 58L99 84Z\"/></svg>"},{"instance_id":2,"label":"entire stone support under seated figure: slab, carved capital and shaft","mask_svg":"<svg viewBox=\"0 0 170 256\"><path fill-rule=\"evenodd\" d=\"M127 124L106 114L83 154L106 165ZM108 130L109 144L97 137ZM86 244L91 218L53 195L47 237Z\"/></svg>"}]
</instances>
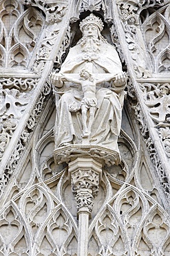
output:
<instances>
[{"instance_id":1,"label":"entire stone support under seated figure: slab, carved capital and shaft","mask_svg":"<svg viewBox=\"0 0 170 256\"><path fill-rule=\"evenodd\" d=\"M57 164L68 163L78 218L78 256L87 256L88 228L103 165L118 165L120 154L96 145L67 145L54 150Z\"/></svg>"}]
</instances>

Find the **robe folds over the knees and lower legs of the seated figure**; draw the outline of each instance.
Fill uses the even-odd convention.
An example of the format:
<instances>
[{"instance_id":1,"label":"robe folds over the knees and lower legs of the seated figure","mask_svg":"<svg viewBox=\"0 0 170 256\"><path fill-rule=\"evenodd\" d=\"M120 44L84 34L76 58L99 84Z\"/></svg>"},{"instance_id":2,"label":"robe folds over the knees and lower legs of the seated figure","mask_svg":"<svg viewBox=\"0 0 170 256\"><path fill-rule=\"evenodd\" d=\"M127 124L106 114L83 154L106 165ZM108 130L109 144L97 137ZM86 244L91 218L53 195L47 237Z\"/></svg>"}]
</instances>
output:
<instances>
[{"instance_id":1,"label":"robe folds over the knees and lower legs of the seated figure","mask_svg":"<svg viewBox=\"0 0 170 256\"><path fill-rule=\"evenodd\" d=\"M90 145L103 145L118 150L124 91L116 93L100 88L96 91L97 106L89 138ZM82 120L81 100L83 93L76 89L65 92L57 104L55 138L56 147L81 144ZM70 104L75 108L70 110Z\"/></svg>"}]
</instances>

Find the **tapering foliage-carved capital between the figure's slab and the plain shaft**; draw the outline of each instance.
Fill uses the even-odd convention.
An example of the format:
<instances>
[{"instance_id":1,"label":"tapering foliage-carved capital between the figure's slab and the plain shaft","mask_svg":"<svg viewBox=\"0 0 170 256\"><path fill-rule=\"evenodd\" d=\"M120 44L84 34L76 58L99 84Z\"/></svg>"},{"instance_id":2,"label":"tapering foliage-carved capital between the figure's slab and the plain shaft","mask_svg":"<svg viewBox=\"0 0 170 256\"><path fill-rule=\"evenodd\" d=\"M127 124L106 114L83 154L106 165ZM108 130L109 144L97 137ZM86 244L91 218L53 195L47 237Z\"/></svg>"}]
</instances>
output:
<instances>
[{"instance_id":1,"label":"tapering foliage-carved capital between the figure's slab and the plain shaft","mask_svg":"<svg viewBox=\"0 0 170 256\"><path fill-rule=\"evenodd\" d=\"M98 194L102 163L93 158L78 157L69 163L68 170L76 199L77 214L83 211L91 217L93 199Z\"/></svg>"}]
</instances>

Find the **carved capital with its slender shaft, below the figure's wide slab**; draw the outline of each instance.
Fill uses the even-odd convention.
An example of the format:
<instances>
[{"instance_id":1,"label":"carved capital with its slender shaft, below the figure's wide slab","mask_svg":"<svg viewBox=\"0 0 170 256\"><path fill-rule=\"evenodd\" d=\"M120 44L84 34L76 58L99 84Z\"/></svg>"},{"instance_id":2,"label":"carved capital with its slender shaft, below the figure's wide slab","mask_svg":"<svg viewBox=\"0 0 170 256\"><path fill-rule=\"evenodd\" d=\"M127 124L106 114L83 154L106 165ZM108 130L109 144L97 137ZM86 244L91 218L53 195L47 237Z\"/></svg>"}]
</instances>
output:
<instances>
[{"instance_id":1,"label":"carved capital with its slender shaft, below the figure's wide slab","mask_svg":"<svg viewBox=\"0 0 170 256\"><path fill-rule=\"evenodd\" d=\"M78 256L87 256L89 218L98 194L102 163L93 158L78 157L69 163L72 192L78 217Z\"/></svg>"}]
</instances>

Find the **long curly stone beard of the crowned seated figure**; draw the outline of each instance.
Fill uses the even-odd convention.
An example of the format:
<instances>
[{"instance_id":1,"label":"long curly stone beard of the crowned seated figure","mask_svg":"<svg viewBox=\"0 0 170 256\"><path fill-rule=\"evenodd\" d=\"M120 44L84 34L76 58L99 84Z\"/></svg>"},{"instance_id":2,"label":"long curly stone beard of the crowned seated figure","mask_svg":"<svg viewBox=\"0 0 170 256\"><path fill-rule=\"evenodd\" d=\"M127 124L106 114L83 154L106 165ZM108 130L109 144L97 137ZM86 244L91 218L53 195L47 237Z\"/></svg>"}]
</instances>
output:
<instances>
[{"instance_id":1,"label":"long curly stone beard of the crowned seated figure","mask_svg":"<svg viewBox=\"0 0 170 256\"><path fill-rule=\"evenodd\" d=\"M85 53L98 53L100 51L100 39L98 37L83 37L79 44Z\"/></svg>"}]
</instances>

